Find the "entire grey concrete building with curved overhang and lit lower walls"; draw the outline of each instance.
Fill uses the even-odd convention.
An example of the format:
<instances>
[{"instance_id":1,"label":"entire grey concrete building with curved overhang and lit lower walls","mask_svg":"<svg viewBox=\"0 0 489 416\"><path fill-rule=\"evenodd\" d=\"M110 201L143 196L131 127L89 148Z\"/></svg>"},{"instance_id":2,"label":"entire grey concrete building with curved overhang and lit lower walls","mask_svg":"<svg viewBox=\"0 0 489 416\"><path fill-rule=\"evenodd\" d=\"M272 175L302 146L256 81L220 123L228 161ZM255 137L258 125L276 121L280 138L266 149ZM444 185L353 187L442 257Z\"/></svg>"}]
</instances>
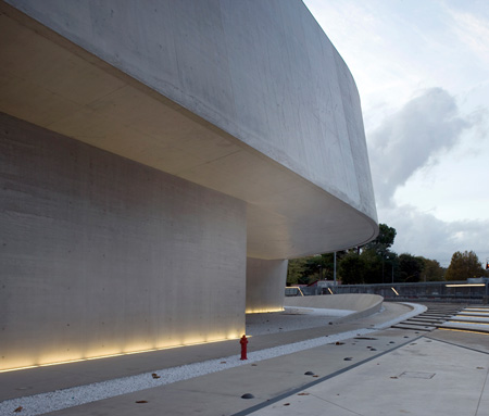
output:
<instances>
[{"instance_id":1,"label":"entire grey concrete building with curved overhang and lit lower walls","mask_svg":"<svg viewBox=\"0 0 489 416\"><path fill-rule=\"evenodd\" d=\"M300 1L0 1L0 368L238 338L377 234L353 78Z\"/></svg>"}]
</instances>

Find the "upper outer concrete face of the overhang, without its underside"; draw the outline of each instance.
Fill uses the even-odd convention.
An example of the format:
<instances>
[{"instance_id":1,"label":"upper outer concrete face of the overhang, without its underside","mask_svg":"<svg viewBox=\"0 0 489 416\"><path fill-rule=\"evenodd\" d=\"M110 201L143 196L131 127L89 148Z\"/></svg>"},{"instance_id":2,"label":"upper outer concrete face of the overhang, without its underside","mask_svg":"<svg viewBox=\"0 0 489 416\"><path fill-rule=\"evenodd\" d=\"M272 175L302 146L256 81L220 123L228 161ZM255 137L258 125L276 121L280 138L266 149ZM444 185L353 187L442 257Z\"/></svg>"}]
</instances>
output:
<instances>
[{"instance_id":1,"label":"upper outer concrete face of the overhang, without its underside","mask_svg":"<svg viewBox=\"0 0 489 416\"><path fill-rule=\"evenodd\" d=\"M8 2L376 222L354 80L301 1Z\"/></svg>"}]
</instances>

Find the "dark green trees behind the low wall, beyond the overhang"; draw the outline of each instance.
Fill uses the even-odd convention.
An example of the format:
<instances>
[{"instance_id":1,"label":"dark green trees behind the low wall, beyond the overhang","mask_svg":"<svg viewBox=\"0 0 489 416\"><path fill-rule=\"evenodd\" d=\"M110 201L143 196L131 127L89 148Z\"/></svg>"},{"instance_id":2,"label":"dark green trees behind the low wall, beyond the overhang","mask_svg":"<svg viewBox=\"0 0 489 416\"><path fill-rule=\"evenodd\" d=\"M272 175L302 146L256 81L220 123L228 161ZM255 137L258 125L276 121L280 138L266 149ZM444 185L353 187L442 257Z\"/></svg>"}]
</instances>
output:
<instances>
[{"instance_id":1,"label":"dark green trees behind the low wall, beyond the overhang","mask_svg":"<svg viewBox=\"0 0 489 416\"><path fill-rule=\"evenodd\" d=\"M489 276L474 251L455 252L450 266L436 260L409 253L397 254L390 248L397 231L379 224L377 238L367 244L336 252L337 279L342 285L466 280ZM287 285L309 285L315 280L333 280L335 254L317 254L289 260Z\"/></svg>"}]
</instances>

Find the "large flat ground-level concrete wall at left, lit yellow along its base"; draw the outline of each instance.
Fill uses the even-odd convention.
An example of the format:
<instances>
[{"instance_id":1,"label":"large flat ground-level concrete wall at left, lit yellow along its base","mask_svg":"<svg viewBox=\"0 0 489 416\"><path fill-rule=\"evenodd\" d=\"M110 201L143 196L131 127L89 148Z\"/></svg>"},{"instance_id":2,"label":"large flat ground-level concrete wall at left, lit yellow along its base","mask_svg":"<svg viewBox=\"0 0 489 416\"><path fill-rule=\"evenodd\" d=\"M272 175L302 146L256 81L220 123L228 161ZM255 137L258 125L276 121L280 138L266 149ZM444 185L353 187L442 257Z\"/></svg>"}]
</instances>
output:
<instances>
[{"instance_id":1,"label":"large flat ground-level concrete wall at left, lit yellow along its base","mask_svg":"<svg viewBox=\"0 0 489 416\"><path fill-rule=\"evenodd\" d=\"M244 203L0 125L0 368L243 333Z\"/></svg>"}]
</instances>

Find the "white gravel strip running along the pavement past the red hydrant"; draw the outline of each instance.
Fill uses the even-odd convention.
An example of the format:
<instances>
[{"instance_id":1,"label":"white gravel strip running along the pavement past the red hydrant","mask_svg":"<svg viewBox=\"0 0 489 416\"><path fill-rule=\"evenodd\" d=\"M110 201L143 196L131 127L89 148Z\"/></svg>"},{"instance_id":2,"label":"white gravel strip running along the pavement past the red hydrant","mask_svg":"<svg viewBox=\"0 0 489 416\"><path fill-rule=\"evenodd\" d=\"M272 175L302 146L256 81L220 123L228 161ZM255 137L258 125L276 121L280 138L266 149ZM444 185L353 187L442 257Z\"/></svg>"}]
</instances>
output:
<instances>
[{"instance_id":1,"label":"white gravel strip running along the pavement past the red hydrant","mask_svg":"<svg viewBox=\"0 0 489 416\"><path fill-rule=\"evenodd\" d=\"M174 368L165 368L145 373L138 376L117 378L113 380L96 382L87 386L74 387L70 389L57 390L49 393L41 393L30 396L7 400L0 403L0 415L22 414L25 416L41 415L48 412L54 412L98 400L114 398L121 394L133 393L136 391L151 389L153 387L170 385L176 381L187 380L193 377L204 376L206 374L221 371L223 369L238 367L251 364L262 360L274 358L277 356L291 354L299 351L309 350L315 346L342 341L349 338L372 333L378 329L387 328L401 320L424 312L426 308L422 305L410 304L414 310L389 323L369 329L360 329L341 332L333 336L315 338L312 340L294 342L287 345L275 346L248 354L248 361L240 361L239 355L231 355L218 360L210 360L202 363L195 363ZM421 311L421 312L419 312ZM154 379L152 373L158 374L160 378ZM22 412L14 413L14 409L22 406Z\"/></svg>"}]
</instances>

